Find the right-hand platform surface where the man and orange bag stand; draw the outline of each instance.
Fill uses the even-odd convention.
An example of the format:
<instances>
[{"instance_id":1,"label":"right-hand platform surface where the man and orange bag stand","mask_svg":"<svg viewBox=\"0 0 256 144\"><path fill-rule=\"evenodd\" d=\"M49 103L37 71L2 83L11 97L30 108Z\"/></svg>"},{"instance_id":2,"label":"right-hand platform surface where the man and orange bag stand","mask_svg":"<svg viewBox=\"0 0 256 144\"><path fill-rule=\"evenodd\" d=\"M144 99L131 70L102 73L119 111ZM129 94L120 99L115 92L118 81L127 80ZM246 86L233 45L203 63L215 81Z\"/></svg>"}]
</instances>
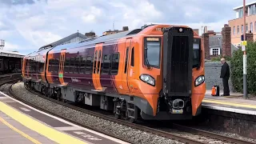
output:
<instances>
[{"instance_id":1,"label":"right-hand platform surface where the man and orange bag stand","mask_svg":"<svg viewBox=\"0 0 256 144\"><path fill-rule=\"evenodd\" d=\"M220 94L222 94L222 91L220 91ZM256 97L250 99L242 97L243 94L240 93L230 93L230 96L212 96L211 91L206 90L202 107L238 114L256 115Z\"/></svg>"}]
</instances>

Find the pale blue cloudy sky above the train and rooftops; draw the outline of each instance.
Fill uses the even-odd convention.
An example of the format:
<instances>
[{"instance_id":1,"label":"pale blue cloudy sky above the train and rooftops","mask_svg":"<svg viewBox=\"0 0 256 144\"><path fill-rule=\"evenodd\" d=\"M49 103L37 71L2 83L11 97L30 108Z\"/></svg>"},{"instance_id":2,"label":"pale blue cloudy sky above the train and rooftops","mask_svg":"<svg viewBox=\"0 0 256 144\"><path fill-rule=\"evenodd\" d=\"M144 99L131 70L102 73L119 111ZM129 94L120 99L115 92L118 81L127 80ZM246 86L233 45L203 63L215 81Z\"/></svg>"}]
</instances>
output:
<instances>
[{"instance_id":1,"label":"pale blue cloudy sky above the train and rooftops","mask_svg":"<svg viewBox=\"0 0 256 144\"><path fill-rule=\"evenodd\" d=\"M0 0L0 38L4 50L29 54L77 30L102 35L113 22L118 30L157 22L220 31L241 5L242 0Z\"/></svg>"}]
</instances>

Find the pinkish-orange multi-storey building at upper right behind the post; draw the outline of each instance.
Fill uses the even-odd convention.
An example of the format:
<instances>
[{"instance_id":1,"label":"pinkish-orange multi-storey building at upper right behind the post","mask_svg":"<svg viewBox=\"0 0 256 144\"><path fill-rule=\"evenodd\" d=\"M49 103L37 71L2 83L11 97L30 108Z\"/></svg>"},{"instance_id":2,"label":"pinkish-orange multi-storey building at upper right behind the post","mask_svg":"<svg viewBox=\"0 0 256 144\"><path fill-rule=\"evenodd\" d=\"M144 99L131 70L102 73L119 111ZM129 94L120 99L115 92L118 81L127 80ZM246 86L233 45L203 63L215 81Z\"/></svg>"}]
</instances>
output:
<instances>
[{"instance_id":1,"label":"pinkish-orange multi-storey building at upper right behind the post","mask_svg":"<svg viewBox=\"0 0 256 144\"><path fill-rule=\"evenodd\" d=\"M231 43L234 46L240 46L241 35L244 30L243 23L243 6L238 6L233 9L236 12L236 18L229 21L231 27ZM253 34L253 39L256 35L256 2L246 4L246 33Z\"/></svg>"}]
</instances>

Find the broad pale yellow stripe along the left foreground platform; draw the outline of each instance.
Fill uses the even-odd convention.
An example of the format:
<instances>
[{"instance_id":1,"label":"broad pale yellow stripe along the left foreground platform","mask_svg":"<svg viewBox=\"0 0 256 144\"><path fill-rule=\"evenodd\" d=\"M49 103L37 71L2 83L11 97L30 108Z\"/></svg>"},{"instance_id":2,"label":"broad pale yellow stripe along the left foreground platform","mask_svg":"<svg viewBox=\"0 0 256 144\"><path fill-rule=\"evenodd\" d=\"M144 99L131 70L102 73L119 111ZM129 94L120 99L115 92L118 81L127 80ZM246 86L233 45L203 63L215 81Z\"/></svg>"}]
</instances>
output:
<instances>
[{"instance_id":1,"label":"broad pale yellow stripe along the left foreground platform","mask_svg":"<svg viewBox=\"0 0 256 144\"><path fill-rule=\"evenodd\" d=\"M14 110L14 108L7 106L3 102L0 102L0 110L3 113L9 115L11 118L16 120L17 122L20 122L22 125L30 128L31 130L38 132L38 134L42 134L43 136L51 139L54 142L63 143L63 144L66 144L66 143L85 144L86 143L86 142L82 142L78 138L74 138L68 134L64 134L58 130L50 128L49 126L46 126L41 122L38 122L33 118L26 116L26 114L22 114L18 110Z\"/></svg>"}]
</instances>

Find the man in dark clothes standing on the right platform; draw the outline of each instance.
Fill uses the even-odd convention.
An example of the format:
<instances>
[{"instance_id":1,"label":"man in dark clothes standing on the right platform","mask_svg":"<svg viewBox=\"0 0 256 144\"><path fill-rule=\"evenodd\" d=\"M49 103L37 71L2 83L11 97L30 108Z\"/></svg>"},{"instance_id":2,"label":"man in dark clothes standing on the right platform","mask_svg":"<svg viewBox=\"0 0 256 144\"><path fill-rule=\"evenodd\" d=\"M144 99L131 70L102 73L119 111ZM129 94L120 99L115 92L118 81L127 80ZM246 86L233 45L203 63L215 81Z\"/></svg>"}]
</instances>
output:
<instances>
[{"instance_id":1,"label":"man in dark clothes standing on the right platform","mask_svg":"<svg viewBox=\"0 0 256 144\"><path fill-rule=\"evenodd\" d=\"M225 58L221 59L222 62L222 70L221 70L221 76L223 87L224 87L224 93L222 96L229 96L230 95L230 88L229 88L229 78L230 78L230 66L226 63Z\"/></svg>"}]
</instances>

